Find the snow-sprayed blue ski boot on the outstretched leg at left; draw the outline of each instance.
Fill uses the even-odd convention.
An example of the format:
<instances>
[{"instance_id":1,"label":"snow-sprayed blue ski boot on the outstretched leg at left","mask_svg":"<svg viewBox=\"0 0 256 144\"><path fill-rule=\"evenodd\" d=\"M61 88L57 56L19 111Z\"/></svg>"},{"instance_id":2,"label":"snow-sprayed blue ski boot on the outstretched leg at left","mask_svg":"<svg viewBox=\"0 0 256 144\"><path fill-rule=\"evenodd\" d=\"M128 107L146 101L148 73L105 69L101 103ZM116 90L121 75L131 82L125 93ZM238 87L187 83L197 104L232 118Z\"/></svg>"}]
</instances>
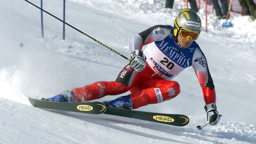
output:
<instances>
[{"instance_id":1,"label":"snow-sprayed blue ski boot on the outstretched leg at left","mask_svg":"<svg viewBox=\"0 0 256 144\"><path fill-rule=\"evenodd\" d=\"M55 102L76 102L73 91L64 91L54 97L42 98L42 100L55 101Z\"/></svg>"}]
</instances>

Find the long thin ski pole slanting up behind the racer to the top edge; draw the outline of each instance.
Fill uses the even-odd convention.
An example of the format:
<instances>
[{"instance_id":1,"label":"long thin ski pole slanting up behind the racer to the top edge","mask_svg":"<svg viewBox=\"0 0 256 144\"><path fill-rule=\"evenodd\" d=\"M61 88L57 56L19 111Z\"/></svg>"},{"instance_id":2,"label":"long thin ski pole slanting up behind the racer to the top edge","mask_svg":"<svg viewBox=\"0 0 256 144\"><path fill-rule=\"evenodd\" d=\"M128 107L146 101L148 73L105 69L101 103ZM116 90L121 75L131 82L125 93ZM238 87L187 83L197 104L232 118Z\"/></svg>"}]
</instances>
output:
<instances>
[{"instance_id":1,"label":"long thin ski pole slanting up behind the racer to the top edge","mask_svg":"<svg viewBox=\"0 0 256 144\"><path fill-rule=\"evenodd\" d=\"M78 30L77 28L73 27L72 25L70 25L70 24L66 23L65 21L63 21L63 20L59 19L58 17L56 17L56 16L52 15L51 13L49 13L49 12L47 12L47 11L43 10L42 8L40 8L40 7L36 6L36 5L35 5L35 4L33 4L32 2L29 2L28 0L25 0L25 1L26 1L26 2L28 2L28 3L30 3L30 4L32 4L33 6L35 6L35 7L37 7L37 8L39 8L40 10L42 10L43 12L47 13L48 15L50 15L50 16L52 16L52 17L54 17L55 19L58 19L59 21L61 21L61 22L65 23L65 24L66 24L66 25L68 25L69 27L71 27L71 28L73 28L74 30L76 30L76 31L78 31L78 32L80 32L80 33L82 33L83 35L87 36L88 38L91 38L91 39L92 39L92 40L94 40L95 42L98 42L99 44L101 44L102 46L106 47L107 49L109 49L109 50L113 51L113 52L114 52L114 53L116 53L117 55L120 55L121 57L124 57L126 60L131 61L131 59L129 59L129 58L127 58L127 57L125 57L125 56L124 56L124 55L122 55L121 53L118 53L118 52L117 52L117 51L115 51L114 49L111 49L111 48L110 48L110 47L108 47L106 44L103 44L102 42L100 42L100 41L96 40L95 38L93 38L93 37L89 36L88 34L85 34L84 32L82 32L82 31Z\"/></svg>"}]
</instances>

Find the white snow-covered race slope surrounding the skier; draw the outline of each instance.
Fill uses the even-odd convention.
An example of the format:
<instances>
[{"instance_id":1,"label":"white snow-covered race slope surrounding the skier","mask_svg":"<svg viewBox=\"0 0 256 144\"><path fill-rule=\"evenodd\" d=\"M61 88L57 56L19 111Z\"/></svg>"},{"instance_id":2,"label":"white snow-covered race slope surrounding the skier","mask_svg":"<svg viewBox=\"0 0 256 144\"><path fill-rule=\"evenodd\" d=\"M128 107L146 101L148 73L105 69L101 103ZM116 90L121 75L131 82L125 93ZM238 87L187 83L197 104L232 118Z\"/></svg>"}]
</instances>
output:
<instances>
[{"instance_id":1,"label":"white snow-covered race slope surrounding the skier","mask_svg":"<svg viewBox=\"0 0 256 144\"><path fill-rule=\"evenodd\" d=\"M30 0L40 6L40 0ZM0 3L0 143L256 143L256 21L231 13L233 28L221 28L208 6L198 13L197 42L206 55L217 93L221 122L206 126L202 89L192 68L174 80L181 93L138 110L186 114L185 127L31 106L27 97L51 97L66 89L114 80L128 61L23 0ZM132 36L156 24L171 24L182 8L164 8L165 0L66 0L66 22L129 57ZM43 0L43 8L63 18L62 0ZM124 95L124 94L123 94ZM106 96L98 101L113 100Z\"/></svg>"}]
</instances>

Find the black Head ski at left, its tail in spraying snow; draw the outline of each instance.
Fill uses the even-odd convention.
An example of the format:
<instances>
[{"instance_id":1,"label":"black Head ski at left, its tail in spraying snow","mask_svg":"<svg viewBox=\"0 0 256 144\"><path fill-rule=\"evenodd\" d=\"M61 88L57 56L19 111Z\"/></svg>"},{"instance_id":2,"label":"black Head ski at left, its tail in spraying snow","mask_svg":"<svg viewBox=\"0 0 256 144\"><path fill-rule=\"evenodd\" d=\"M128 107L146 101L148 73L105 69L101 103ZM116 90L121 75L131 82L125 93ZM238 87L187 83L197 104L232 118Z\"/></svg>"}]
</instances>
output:
<instances>
[{"instance_id":1,"label":"black Head ski at left, its tail in spraying snow","mask_svg":"<svg viewBox=\"0 0 256 144\"><path fill-rule=\"evenodd\" d=\"M54 110L82 112L87 114L102 114L106 111L106 105L102 102L52 102L37 100L28 97L32 106Z\"/></svg>"}]
</instances>

